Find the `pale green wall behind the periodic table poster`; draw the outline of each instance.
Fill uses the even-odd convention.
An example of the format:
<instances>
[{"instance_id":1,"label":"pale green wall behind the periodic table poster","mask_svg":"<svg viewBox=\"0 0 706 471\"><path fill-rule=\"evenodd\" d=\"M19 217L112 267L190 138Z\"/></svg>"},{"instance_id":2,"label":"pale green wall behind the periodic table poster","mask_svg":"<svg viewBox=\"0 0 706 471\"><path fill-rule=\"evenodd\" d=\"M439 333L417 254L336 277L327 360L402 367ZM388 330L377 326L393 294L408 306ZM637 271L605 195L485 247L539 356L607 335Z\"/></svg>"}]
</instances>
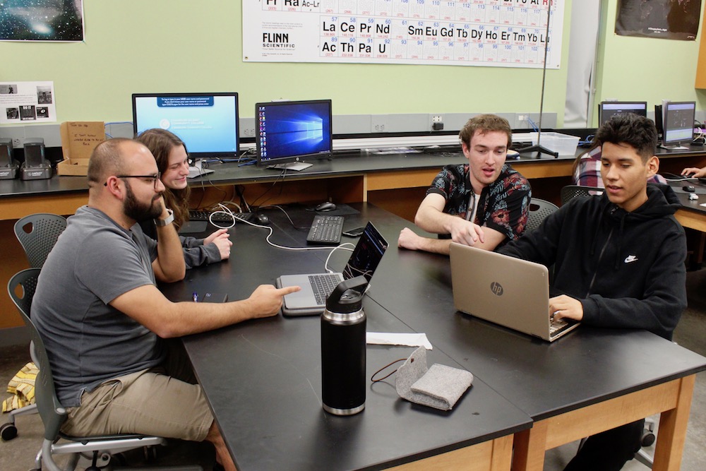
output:
<instances>
[{"instance_id":1,"label":"pale green wall behind the periodic table poster","mask_svg":"<svg viewBox=\"0 0 706 471\"><path fill-rule=\"evenodd\" d=\"M241 1L84 1L85 43L0 42L0 81L54 81L58 121L131 120L131 93L235 90L258 101L330 97L334 114L538 112L542 71L525 68L242 61ZM545 112L563 121L566 1L559 70Z\"/></svg>"}]
</instances>

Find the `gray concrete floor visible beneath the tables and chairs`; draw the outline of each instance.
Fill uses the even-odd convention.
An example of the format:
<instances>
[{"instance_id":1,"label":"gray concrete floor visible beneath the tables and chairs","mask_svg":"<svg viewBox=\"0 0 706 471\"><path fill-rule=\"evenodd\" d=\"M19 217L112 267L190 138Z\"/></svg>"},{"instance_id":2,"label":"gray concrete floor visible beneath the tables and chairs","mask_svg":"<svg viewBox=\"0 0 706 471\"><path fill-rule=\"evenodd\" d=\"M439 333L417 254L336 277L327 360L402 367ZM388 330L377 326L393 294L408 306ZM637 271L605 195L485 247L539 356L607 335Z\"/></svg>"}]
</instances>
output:
<instances>
[{"instance_id":1,"label":"gray concrete floor visible beneath the tables and chairs","mask_svg":"<svg viewBox=\"0 0 706 471\"><path fill-rule=\"evenodd\" d=\"M674 333L674 341L694 352L706 356L706 269L689 272L687 291L689 307L684 312ZM13 374L28 362L29 353L26 345L0 348L0 385L8 383ZM0 394L1 398L6 395ZM659 417L654 417L656 421ZM0 423L6 418L0 417ZM16 439L0 443L0 470L27 471L34 467L35 454L42 443L42 424L39 416L20 416L16 421L19 435ZM691 414L683 451L681 469L683 471L702 470L706 462L706 371L698 374L691 405ZM577 443L555 448L546 453L544 471L562 470L573 457ZM653 450L646 449L652 454ZM201 465L210 470L213 465L213 447L208 443L188 443L174 441L166 448L160 448L158 465ZM142 463L139 453L127 456L128 464ZM624 468L627 471L647 470L636 460L630 461Z\"/></svg>"}]
</instances>

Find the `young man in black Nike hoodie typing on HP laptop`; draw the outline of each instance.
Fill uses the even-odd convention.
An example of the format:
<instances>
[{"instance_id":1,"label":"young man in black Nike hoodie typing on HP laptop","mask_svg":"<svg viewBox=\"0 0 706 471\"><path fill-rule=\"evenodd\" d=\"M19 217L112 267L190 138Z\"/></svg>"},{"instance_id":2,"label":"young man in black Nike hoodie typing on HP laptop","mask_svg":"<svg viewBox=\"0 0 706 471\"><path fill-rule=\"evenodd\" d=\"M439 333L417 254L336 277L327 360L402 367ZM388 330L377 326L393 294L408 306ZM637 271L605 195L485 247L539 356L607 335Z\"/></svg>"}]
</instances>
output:
<instances>
[{"instance_id":1,"label":"young man in black Nike hoodie typing on HP laptop","mask_svg":"<svg viewBox=\"0 0 706 471\"><path fill-rule=\"evenodd\" d=\"M686 237L680 204L659 170L657 130L635 114L617 115L596 133L602 196L574 198L542 225L498 251L554 265L556 318L587 326L639 328L671 340L686 308ZM565 468L620 470L640 448L644 421L591 436Z\"/></svg>"}]
</instances>

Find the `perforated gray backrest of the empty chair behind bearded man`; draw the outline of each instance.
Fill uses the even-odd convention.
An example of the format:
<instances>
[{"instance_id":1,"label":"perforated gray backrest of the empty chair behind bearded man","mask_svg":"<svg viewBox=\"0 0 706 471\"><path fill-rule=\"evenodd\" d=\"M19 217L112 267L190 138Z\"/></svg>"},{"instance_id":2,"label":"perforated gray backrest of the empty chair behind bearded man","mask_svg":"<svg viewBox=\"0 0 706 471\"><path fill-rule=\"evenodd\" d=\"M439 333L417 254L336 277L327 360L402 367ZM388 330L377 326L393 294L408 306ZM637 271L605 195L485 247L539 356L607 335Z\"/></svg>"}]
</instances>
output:
<instances>
[{"instance_id":1,"label":"perforated gray backrest of the empty chair behind bearded man","mask_svg":"<svg viewBox=\"0 0 706 471\"><path fill-rule=\"evenodd\" d=\"M25 227L30 231L25 231ZM15 235L32 268L42 268L56 239L66 229L66 217L49 213L30 214L15 223Z\"/></svg>"}]
</instances>

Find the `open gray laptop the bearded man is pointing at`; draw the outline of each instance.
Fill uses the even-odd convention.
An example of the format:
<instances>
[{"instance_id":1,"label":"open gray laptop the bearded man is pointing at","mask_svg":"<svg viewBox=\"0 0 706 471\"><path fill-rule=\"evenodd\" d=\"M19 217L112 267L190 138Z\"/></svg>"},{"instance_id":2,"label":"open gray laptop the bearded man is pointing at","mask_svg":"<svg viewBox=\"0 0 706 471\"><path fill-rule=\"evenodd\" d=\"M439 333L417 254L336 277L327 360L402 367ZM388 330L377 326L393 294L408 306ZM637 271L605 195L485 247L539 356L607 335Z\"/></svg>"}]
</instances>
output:
<instances>
[{"instance_id":1,"label":"open gray laptop the bearded man is pointing at","mask_svg":"<svg viewBox=\"0 0 706 471\"><path fill-rule=\"evenodd\" d=\"M378 229L368 222L343 273L312 273L308 275L282 275L275 283L278 288L300 286L301 291L287 294L282 304L285 316L313 316L323 313L326 298L343 280L364 275L370 281L375 269L388 248L388 242Z\"/></svg>"}]
</instances>

